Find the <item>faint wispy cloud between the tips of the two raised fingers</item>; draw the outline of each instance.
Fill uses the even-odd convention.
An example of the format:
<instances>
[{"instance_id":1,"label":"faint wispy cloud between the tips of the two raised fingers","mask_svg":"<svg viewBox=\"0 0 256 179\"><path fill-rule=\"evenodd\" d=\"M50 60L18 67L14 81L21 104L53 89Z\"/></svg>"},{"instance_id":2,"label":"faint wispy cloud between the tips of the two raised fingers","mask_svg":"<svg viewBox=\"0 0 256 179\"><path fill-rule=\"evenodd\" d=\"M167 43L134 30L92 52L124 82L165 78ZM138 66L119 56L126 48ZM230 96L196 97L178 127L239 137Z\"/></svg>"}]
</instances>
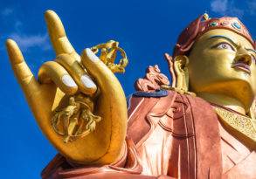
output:
<instances>
[{"instance_id":1,"label":"faint wispy cloud between the tips of the two raised fingers","mask_svg":"<svg viewBox=\"0 0 256 179\"><path fill-rule=\"evenodd\" d=\"M44 35L19 35L13 33L10 34L9 38L14 39L24 52L35 46L40 47L44 51L49 50L51 47L46 33Z\"/></svg>"}]
</instances>

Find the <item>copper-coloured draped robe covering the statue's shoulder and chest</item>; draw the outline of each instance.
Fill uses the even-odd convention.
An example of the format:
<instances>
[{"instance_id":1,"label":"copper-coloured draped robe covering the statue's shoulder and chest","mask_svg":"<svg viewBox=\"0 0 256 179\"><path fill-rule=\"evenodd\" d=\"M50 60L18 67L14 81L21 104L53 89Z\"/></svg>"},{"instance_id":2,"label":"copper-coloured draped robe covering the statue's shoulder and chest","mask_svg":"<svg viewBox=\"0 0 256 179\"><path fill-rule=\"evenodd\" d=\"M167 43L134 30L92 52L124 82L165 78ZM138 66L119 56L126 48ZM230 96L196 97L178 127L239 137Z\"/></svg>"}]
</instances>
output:
<instances>
[{"instance_id":1,"label":"copper-coloured draped robe covering the statue's shoulder and chest","mask_svg":"<svg viewBox=\"0 0 256 179\"><path fill-rule=\"evenodd\" d=\"M111 165L73 168L57 155L43 178L256 178L256 154L229 134L211 105L169 91L129 99L128 137Z\"/></svg>"}]
</instances>

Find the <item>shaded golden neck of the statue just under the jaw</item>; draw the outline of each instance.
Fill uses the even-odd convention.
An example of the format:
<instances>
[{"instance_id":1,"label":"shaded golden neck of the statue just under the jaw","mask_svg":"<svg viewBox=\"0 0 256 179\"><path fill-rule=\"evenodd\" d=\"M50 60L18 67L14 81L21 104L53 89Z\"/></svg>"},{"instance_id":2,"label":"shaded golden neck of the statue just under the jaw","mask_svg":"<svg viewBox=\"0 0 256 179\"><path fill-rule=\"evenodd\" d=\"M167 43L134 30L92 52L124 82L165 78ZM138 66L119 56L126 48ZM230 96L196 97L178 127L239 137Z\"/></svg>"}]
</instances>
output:
<instances>
[{"instance_id":1,"label":"shaded golden neck of the statue just under the jaw","mask_svg":"<svg viewBox=\"0 0 256 179\"><path fill-rule=\"evenodd\" d=\"M235 98L218 93L197 93L197 96L210 103L230 108L239 114L246 114L246 109L243 104Z\"/></svg>"}]
</instances>

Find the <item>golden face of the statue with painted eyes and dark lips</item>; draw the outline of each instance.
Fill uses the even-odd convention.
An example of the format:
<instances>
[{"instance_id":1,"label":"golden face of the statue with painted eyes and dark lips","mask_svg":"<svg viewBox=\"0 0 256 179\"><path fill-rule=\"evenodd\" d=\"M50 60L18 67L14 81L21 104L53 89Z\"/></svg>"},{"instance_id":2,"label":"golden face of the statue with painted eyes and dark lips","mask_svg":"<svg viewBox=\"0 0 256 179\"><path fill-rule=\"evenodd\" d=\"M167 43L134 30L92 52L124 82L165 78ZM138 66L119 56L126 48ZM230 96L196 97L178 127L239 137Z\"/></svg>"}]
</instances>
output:
<instances>
[{"instance_id":1,"label":"golden face of the statue with painted eyes and dark lips","mask_svg":"<svg viewBox=\"0 0 256 179\"><path fill-rule=\"evenodd\" d=\"M256 83L255 51L239 34L216 29L197 39L189 55L190 91L220 93L249 105Z\"/></svg>"}]
</instances>

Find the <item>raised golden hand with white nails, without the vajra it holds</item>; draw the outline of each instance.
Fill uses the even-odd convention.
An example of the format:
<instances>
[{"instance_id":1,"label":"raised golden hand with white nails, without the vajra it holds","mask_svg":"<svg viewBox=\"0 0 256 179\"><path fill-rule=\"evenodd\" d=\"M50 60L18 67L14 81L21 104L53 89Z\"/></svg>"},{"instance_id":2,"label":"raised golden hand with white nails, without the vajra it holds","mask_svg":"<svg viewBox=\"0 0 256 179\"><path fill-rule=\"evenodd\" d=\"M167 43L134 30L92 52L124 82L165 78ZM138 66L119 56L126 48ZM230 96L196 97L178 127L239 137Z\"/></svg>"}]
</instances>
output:
<instances>
[{"instance_id":1,"label":"raised golden hand with white nails, without the vajra it holds","mask_svg":"<svg viewBox=\"0 0 256 179\"><path fill-rule=\"evenodd\" d=\"M90 49L84 50L81 56L74 51L55 12L47 10L45 20L57 58L40 67L38 80L17 44L11 39L6 42L13 71L38 125L59 153L72 162L114 162L121 154L127 128L127 107L121 84ZM99 92L97 98L96 92ZM94 100L93 114L102 120L91 134L65 143L63 136L54 131L51 120L61 101L78 93Z\"/></svg>"}]
</instances>

